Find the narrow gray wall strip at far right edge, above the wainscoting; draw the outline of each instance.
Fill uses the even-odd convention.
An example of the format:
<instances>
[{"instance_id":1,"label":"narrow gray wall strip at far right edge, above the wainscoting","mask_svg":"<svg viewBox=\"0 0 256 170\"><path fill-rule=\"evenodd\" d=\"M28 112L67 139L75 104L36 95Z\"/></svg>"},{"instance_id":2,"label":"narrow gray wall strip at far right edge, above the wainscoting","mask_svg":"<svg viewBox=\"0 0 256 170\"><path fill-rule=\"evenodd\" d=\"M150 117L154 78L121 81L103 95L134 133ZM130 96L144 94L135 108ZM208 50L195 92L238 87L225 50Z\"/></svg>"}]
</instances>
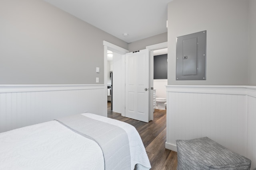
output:
<instances>
[{"instance_id":1,"label":"narrow gray wall strip at far right edge, above the wainscoting","mask_svg":"<svg viewBox=\"0 0 256 170\"><path fill-rule=\"evenodd\" d=\"M249 85L256 86L256 0L249 0Z\"/></svg>"}]
</instances>

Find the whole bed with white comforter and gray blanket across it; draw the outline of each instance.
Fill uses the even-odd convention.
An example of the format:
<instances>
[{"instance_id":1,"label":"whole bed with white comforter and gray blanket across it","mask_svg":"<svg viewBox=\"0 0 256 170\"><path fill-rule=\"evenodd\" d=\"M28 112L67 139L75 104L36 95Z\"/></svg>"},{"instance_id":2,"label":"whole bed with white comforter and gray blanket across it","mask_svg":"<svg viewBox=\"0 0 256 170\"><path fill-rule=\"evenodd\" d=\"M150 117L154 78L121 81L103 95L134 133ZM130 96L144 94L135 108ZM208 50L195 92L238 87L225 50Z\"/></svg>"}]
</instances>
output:
<instances>
[{"instance_id":1,"label":"whole bed with white comforter and gray blanket across it","mask_svg":"<svg viewBox=\"0 0 256 170\"><path fill-rule=\"evenodd\" d=\"M82 113L0 133L2 170L148 170L136 129Z\"/></svg>"}]
</instances>

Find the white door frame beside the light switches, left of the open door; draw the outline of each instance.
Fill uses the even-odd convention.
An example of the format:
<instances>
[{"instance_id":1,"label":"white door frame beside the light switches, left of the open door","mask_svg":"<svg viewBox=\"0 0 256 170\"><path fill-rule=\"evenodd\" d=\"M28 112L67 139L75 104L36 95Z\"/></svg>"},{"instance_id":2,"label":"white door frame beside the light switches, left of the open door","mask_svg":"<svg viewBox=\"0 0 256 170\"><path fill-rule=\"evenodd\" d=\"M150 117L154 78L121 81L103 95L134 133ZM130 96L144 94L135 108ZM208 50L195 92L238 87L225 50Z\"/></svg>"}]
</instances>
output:
<instances>
[{"instance_id":1,"label":"white door frame beside the light switches, left of the open door","mask_svg":"<svg viewBox=\"0 0 256 170\"><path fill-rule=\"evenodd\" d=\"M108 50L110 50L110 51L125 55L126 53L129 53L129 51L126 50L126 49L123 49L122 47L118 47L117 45L114 45L112 43L109 43L107 41L103 41L103 45L104 45L104 94L106 94L106 96L104 98L104 106L103 107L104 107L104 116L108 117L108 96L107 96L107 88L108 88L107 66L108 66L108 60L107 60L107 53L108 53ZM122 88L124 89L125 86L123 86ZM121 103L123 103L124 106L125 106L125 98L122 99ZM123 111L122 111L121 115L125 116L125 109L124 108L123 108Z\"/></svg>"}]
</instances>

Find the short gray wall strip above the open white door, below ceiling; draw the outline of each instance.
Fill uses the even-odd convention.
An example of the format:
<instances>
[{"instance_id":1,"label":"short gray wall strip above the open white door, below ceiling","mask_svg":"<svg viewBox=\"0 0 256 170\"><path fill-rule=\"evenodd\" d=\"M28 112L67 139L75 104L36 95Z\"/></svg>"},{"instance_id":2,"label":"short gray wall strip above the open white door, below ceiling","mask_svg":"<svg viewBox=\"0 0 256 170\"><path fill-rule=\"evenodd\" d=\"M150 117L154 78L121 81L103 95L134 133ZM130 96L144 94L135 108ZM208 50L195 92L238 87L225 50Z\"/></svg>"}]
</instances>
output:
<instances>
[{"instance_id":1,"label":"short gray wall strip above the open white door, below ceiling","mask_svg":"<svg viewBox=\"0 0 256 170\"><path fill-rule=\"evenodd\" d=\"M166 41L167 41L167 32L129 43L128 50L130 52L143 50L143 49L146 49L146 46L155 45L155 44L163 43Z\"/></svg>"}]
</instances>

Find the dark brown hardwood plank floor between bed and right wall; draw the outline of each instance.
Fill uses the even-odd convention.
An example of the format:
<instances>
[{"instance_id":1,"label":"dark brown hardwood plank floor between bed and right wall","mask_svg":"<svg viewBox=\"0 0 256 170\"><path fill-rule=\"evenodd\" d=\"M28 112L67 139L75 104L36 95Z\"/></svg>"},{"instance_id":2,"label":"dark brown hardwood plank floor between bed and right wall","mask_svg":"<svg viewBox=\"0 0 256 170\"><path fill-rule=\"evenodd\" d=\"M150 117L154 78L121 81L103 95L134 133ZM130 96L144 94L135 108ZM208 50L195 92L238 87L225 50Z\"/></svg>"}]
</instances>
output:
<instances>
[{"instance_id":1,"label":"dark brown hardwood plank floor between bed and right wall","mask_svg":"<svg viewBox=\"0 0 256 170\"><path fill-rule=\"evenodd\" d=\"M166 110L155 109L154 120L145 123L112 112L108 102L108 117L129 123L137 129L146 148L151 170L176 170L177 152L165 149Z\"/></svg>"}]
</instances>

